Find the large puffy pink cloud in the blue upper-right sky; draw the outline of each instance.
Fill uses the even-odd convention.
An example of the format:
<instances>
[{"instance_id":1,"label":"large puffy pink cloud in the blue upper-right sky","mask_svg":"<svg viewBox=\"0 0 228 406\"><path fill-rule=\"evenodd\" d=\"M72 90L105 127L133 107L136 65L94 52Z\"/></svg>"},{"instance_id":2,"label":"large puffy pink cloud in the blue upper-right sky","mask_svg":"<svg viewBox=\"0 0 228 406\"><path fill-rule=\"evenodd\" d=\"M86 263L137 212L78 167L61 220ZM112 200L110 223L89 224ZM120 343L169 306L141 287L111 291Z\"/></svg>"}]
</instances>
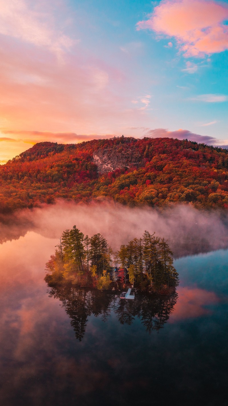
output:
<instances>
[{"instance_id":1,"label":"large puffy pink cloud in the blue upper-right sky","mask_svg":"<svg viewBox=\"0 0 228 406\"><path fill-rule=\"evenodd\" d=\"M185 57L203 57L228 49L228 26L223 24L226 19L228 6L224 2L165 0L149 19L137 23L137 29L175 37Z\"/></svg>"}]
</instances>

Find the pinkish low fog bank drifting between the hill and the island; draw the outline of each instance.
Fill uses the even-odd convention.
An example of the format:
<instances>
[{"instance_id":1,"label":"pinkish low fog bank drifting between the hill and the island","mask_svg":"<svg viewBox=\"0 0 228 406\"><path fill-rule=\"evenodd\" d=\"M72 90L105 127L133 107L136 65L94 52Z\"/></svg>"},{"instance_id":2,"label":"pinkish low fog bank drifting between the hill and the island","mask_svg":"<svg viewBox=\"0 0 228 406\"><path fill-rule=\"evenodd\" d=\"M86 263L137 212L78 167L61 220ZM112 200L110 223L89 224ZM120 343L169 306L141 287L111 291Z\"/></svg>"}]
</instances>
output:
<instances>
[{"instance_id":1,"label":"pinkish low fog bank drifting between the hill and the island","mask_svg":"<svg viewBox=\"0 0 228 406\"><path fill-rule=\"evenodd\" d=\"M58 201L5 218L0 225L0 241L17 239L29 230L58 239L73 225L89 236L101 233L114 250L141 237L145 230L156 231L168 240L175 257L228 247L228 213L184 204L158 211L107 202L77 205Z\"/></svg>"}]
</instances>

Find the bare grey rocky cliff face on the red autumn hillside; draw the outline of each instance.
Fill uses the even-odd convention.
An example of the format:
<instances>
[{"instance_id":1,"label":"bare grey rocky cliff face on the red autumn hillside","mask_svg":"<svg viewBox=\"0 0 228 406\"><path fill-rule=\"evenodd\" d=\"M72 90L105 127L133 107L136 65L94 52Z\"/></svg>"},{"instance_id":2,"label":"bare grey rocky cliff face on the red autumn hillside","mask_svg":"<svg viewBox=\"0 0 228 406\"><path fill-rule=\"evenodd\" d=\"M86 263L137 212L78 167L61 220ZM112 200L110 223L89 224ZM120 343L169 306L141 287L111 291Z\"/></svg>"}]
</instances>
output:
<instances>
[{"instance_id":1,"label":"bare grey rocky cliff face on the red autumn hillside","mask_svg":"<svg viewBox=\"0 0 228 406\"><path fill-rule=\"evenodd\" d=\"M132 147L98 149L93 157L99 173L115 171L117 168L138 167L141 164L141 155Z\"/></svg>"}]
</instances>

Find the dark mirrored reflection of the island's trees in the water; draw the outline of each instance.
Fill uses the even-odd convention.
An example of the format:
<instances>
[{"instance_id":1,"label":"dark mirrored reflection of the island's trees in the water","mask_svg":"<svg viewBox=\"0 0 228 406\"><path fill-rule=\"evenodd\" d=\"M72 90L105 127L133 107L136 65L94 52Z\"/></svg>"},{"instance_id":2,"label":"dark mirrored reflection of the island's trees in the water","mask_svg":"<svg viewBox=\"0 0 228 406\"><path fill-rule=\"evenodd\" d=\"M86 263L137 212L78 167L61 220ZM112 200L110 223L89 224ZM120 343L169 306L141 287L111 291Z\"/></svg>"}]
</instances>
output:
<instances>
[{"instance_id":1,"label":"dark mirrored reflection of the island's trees in the water","mask_svg":"<svg viewBox=\"0 0 228 406\"><path fill-rule=\"evenodd\" d=\"M51 287L49 295L62 302L70 317L76 338L81 341L90 315L100 316L106 322L111 312L121 324L132 324L137 317L147 332L160 330L169 319L177 302L177 293L169 297L136 295L134 301L120 300L115 293L77 289L72 286Z\"/></svg>"}]
</instances>

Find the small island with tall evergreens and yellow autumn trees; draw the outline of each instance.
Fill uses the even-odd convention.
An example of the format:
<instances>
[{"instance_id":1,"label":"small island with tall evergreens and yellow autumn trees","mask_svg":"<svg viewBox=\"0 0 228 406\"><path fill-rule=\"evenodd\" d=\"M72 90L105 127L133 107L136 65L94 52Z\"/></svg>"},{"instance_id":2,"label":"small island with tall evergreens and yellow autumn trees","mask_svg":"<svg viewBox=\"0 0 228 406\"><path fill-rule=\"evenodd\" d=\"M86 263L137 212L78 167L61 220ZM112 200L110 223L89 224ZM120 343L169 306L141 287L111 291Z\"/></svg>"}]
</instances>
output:
<instances>
[{"instance_id":1,"label":"small island with tall evergreens and yellow autumn trees","mask_svg":"<svg viewBox=\"0 0 228 406\"><path fill-rule=\"evenodd\" d=\"M179 284L173 252L164 238L149 231L114 252L100 233L89 238L73 226L62 233L46 270L49 286L99 290L136 287L142 292L168 296Z\"/></svg>"}]
</instances>

